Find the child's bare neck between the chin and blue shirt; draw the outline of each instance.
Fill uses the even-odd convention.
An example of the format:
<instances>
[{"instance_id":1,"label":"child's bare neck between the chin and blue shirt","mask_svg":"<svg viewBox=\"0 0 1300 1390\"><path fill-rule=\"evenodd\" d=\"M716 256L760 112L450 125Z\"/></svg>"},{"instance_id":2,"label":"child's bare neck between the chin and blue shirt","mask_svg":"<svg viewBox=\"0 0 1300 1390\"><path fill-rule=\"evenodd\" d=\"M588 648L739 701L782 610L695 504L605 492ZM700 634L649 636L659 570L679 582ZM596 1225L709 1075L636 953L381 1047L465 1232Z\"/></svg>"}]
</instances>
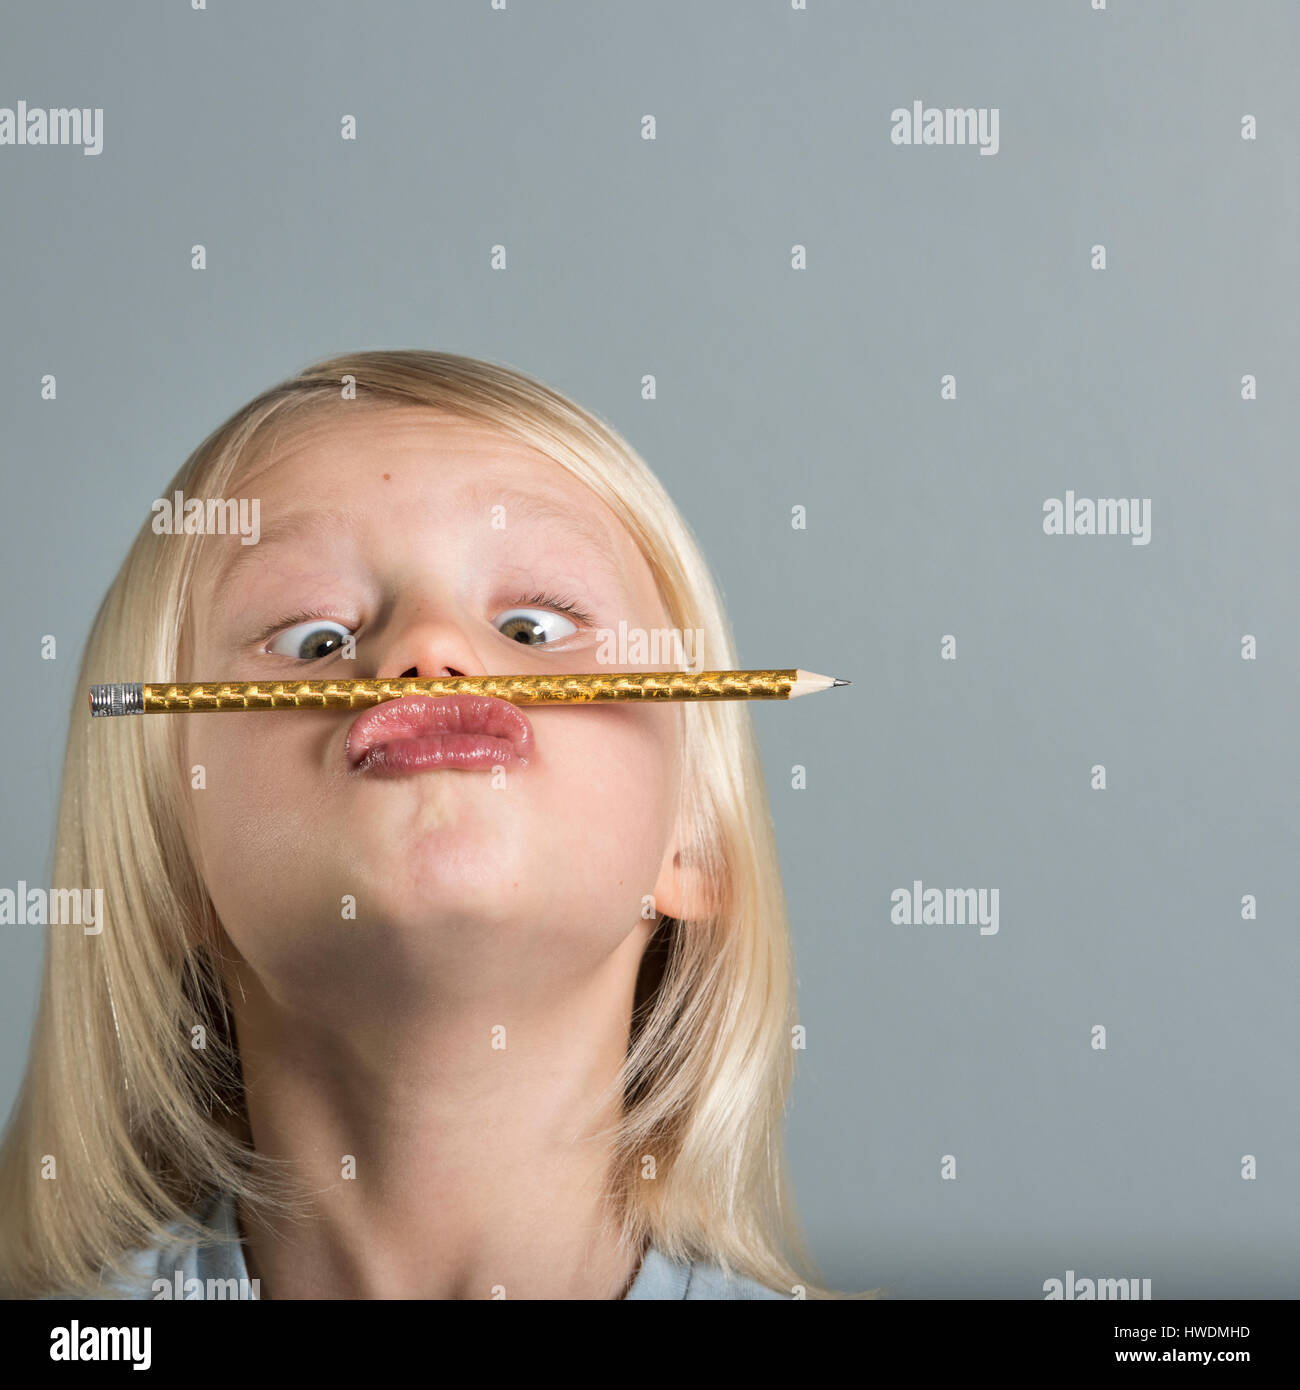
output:
<instances>
[{"instance_id":1,"label":"child's bare neck between the chin and blue shirt","mask_svg":"<svg viewBox=\"0 0 1300 1390\"><path fill-rule=\"evenodd\" d=\"M299 1223L241 1212L263 1295L621 1298L641 1251L608 1195L633 1002L615 967L545 1004L353 1001L346 1023L241 972L253 1147L314 1207Z\"/></svg>"}]
</instances>

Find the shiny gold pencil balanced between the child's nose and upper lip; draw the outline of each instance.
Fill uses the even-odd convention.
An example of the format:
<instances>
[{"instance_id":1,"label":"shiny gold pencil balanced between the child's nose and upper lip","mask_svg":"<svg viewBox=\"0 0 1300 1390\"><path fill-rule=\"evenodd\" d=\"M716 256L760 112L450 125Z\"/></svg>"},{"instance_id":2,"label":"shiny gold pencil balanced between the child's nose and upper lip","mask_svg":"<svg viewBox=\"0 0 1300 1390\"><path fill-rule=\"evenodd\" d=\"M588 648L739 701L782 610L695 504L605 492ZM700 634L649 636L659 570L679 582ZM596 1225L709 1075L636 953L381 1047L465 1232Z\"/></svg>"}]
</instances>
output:
<instances>
[{"instance_id":1,"label":"shiny gold pencil balanced between the child's nose and upper lip","mask_svg":"<svg viewBox=\"0 0 1300 1390\"><path fill-rule=\"evenodd\" d=\"M197 714L222 709L366 709L403 695L491 695L512 705L605 701L795 699L851 681L815 671L602 671L555 676L452 676L445 680L115 681L90 687L90 713Z\"/></svg>"}]
</instances>

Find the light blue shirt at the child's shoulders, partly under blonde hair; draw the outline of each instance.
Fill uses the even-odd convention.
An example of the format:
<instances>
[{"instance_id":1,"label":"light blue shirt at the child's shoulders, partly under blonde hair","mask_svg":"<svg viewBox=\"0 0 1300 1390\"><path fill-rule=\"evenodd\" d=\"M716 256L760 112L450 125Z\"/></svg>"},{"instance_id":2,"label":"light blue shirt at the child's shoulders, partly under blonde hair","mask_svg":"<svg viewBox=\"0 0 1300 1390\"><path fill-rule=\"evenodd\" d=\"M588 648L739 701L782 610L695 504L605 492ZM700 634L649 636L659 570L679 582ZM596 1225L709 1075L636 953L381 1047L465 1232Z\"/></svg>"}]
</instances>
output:
<instances>
[{"instance_id":1,"label":"light blue shirt at the child's shoulders, partly under blonde hair","mask_svg":"<svg viewBox=\"0 0 1300 1390\"><path fill-rule=\"evenodd\" d=\"M228 1194L222 1194L207 1207L206 1223L224 1234L238 1236L235 1202ZM157 1245L133 1255L132 1268L138 1279L133 1275L129 1283L118 1286L128 1298L168 1297L154 1287L154 1282L160 1279L167 1283L171 1298L257 1297L249 1279L242 1244L188 1241L178 1245ZM740 1275L727 1277L716 1265L705 1261L677 1264L651 1247L624 1297L756 1300L793 1295L765 1289Z\"/></svg>"}]
</instances>

